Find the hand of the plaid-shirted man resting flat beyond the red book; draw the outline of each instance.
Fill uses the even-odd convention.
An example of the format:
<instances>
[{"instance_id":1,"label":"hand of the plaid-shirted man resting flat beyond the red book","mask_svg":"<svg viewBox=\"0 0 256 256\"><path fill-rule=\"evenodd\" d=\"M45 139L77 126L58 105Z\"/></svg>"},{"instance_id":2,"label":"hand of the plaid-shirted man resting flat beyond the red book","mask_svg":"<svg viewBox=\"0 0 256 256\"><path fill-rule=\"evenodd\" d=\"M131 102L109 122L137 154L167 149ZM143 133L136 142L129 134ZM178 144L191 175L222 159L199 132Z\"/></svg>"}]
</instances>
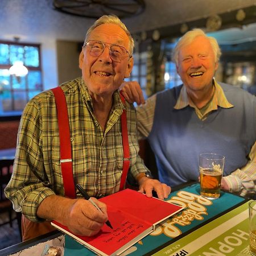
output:
<instances>
[{"instance_id":1,"label":"hand of the plaid-shirted man resting flat beyond the red book","mask_svg":"<svg viewBox=\"0 0 256 256\"><path fill-rule=\"evenodd\" d=\"M160 183L159 180L150 179L146 176L139 180L139 192L146 193L147 197L152 197L153 190L158 194L158 198L162 200L167 198L171 193L171 187Z\"/></svg>"}]
</instances>

